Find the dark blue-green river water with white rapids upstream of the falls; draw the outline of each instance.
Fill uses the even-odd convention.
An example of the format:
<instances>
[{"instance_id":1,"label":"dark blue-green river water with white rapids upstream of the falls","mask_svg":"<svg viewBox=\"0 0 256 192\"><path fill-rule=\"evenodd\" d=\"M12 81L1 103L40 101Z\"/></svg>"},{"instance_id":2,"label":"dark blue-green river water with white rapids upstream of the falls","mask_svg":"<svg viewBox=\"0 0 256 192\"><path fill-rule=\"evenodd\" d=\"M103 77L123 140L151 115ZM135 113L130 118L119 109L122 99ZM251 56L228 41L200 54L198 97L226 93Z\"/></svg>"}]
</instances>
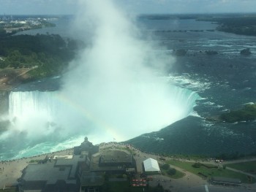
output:
<instances>
[{"instance_id":1,"label":"dark blue-green river water with white rapids upstream of the falls","mask_svg":"<svg viewBox=\"0 0 256 192\"><path fill-rule=\"evenodd\" d=\"M68 37L69 23L70 20L65 18L56 22L56 28L24 31L23 34L49 32ZM216 25L195 20L140 18L138 26L143 28L143 41L160 45L161 48L156 51L173 56L173 50L187 50L185 56L176 57L176 61L170 64L169 78L182 88L197 91L203 99L197 101L194 116L179 120L160 131L136 137L129 142L142 150L162 153L217 155L255 152L256 122L214 123L205 118L255 102L256 37L207 31L216 28ZM203 31L189 31L196 29ZM148 35L151 35L151 38L148 38ZM247 47L252 51L252 55L240 55L240 51ZM206 50L216 50L218 54L206 55ZM23 85L25 87L22 89L47 89L50 84L48 81ZM58 83L53 83L53 89L58 88Z\"/></svg>"}]
</instances>

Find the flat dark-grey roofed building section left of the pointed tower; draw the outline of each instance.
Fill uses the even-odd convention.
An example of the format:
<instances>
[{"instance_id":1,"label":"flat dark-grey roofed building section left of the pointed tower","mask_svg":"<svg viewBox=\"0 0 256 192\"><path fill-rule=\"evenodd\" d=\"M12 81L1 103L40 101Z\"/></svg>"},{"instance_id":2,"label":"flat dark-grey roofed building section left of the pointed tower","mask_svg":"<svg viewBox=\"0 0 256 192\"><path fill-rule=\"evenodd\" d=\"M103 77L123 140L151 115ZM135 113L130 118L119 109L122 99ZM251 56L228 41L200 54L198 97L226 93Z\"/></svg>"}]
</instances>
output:
<instances>
[{"instance_id":1,"label":"flat dark-grey roofed building section left of the pointed tower","mask_svg":"<svg viewBox=\"0 0 256 192\"><path fill-rule=\"evenodd\" d=\"M79 191L77 172L82 162L89 164L86 155L56 155L44 164L29 164L19 191Z\"/></svg>"}]
</instances>

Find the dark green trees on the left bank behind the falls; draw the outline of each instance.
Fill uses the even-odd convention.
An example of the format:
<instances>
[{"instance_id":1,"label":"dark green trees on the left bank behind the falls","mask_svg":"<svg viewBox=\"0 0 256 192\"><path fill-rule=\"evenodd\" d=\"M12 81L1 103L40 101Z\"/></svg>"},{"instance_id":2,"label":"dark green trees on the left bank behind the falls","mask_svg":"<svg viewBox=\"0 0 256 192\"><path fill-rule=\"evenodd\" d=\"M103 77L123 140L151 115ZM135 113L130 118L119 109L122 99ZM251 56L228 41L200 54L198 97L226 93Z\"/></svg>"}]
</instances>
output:
<instances>
[{"instance_id":1,"label":"dark green trees on the left bank behind the falls","mask_svg":"<svg viewBox=\"0 0 256 192\"><path fill-rule=\"evenodd\" d=\"M83 42L59 34L0 37L0 68L30 68L32 79L59 74L75 58Z\"/></svg>"}]
</instances>

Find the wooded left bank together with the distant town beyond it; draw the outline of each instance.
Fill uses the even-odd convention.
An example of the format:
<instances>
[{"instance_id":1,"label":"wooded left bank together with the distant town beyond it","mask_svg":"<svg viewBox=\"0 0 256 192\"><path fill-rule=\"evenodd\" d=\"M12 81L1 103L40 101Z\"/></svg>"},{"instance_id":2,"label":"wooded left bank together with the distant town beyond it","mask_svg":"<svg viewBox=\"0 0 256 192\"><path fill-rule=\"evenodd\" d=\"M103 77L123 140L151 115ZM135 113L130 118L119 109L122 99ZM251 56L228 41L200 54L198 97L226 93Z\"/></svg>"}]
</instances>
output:
<instances>
[{"instance_id":1,"label":"wooded left bank together with the distant town beyond it","mask_svg":"<svg viewBox=\"0 0 256 192\"><path fill-rule=\"evenodd\" d=\"M59 34L14 35L55 27L48 15L0 15L0 91L44 77L60 75L84 43Z\"/></svg>"}]
</instances>

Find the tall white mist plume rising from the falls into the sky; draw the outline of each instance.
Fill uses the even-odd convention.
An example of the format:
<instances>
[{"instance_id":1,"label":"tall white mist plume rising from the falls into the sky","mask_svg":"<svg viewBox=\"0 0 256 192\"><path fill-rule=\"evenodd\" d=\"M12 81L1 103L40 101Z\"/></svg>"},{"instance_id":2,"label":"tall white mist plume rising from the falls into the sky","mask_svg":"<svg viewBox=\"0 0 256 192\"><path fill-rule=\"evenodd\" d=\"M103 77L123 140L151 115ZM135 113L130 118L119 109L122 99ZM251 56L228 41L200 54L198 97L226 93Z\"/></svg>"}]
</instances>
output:
<instances>
[{"instance_id":1,"label":"tall white mist plume rising from the falls into the sky","mask_svg":"<svg viewBox=\"0 0 256 192\"><path fill-rule=\"evenodd\" d=\"M75 29L89 45L71 64L61 92L89 114L82 129L121 141L184 118L187 108L173 107L176 96L160 78L173 58L140 41L113 1L80 1L80 7Z\"/></svg>"}]
</instances>

